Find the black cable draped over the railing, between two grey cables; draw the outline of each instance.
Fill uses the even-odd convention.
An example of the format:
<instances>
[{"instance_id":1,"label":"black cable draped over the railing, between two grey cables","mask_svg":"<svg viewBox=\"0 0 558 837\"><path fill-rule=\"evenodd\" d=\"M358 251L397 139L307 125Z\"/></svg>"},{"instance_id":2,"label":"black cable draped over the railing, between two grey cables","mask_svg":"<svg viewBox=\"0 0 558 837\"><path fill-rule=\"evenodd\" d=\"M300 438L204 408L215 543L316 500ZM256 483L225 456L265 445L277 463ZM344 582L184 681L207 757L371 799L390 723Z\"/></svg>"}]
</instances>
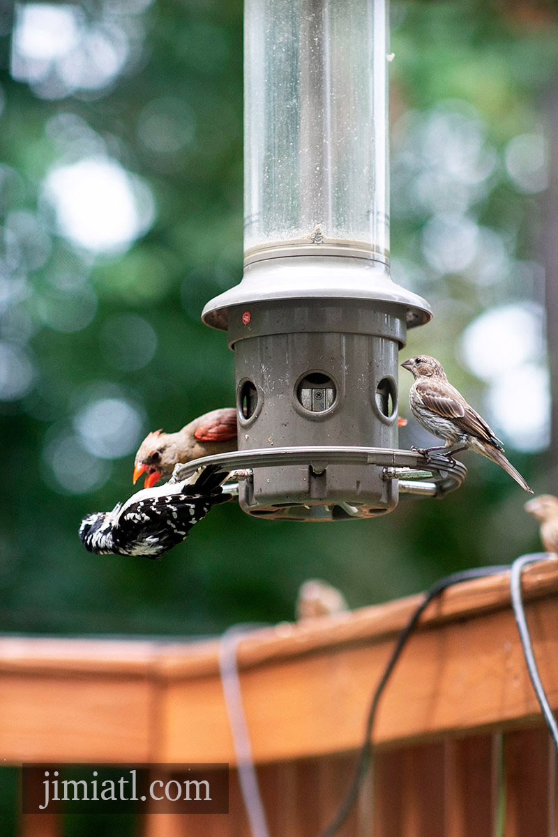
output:
<instances>
[{"instance_id":1,"label":"black cable draped over the railing, between two grey cables","mask_svg":"<svg viewBox=\"0 0 558 837\"><path fill-rule=\"evenodd\" d=\"M427 590L427 593L425 593L422 602L417 606L415 611L412 613L411 618L397 637L397 642L395 644L394 649L392 650L392 655L387 662L387 666L384 670L384 673L383 675L381 675L380 682L376 686L376 691L374 691L374 694L371 699L370 709L368 711L368 717L366 719L364 738L356 762L355 775L352 779L351 785L349 786L345 798L341 802L339 809L337 809L335 818L331 821L331 823L328 826L326 826L324 831L321 832L320 837L333 837L333 835L336 834L336 832L340 829L341 825L345 822L347 816L351 813L351 808L356 802L356 798L360 793L362 783L364 782L366 774L368 773L368 768L370 768L371 765L371 734L372 727L374 726L374 721L376 719L376 709L378 707L378 703L380 702L381 694L387 686L387 681L390 679L392 675L392 671L395 668L397 660L399 659L402 650L405 647L405 644L407 643L407 639L409 639L409 636L412 634L412 630L415 628L418 620L421 618L427 606L433 601L434 598L439 596L440 593L443 593L443 591L446 590L448 587L453 587L453 584L460 584L465 581L471 581L474 578L483 578L484 576L498 575L499 573L507 573L508 571L508 564L494 567L474 567L470 570L461 570L458 573L452 573L451 575L448 575L445 578L440 578L439 581L437 581L429 590Z\"/></svg>"}]
</instances>

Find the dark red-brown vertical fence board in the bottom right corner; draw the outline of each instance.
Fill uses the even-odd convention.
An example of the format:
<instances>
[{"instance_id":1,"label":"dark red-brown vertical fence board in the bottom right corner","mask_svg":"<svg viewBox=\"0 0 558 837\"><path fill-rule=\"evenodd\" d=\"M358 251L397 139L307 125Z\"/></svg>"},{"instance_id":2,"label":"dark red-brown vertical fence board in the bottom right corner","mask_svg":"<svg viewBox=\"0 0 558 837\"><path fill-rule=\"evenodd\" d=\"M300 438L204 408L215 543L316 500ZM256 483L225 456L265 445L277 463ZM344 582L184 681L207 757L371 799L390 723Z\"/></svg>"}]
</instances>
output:
<instances>
[{"instance_id":1,"label":"dark red-brown vertical fence board in the bottom right corner","mask_svg":"<svg viewBox=\"0 0 558 837\"><path fill-rule=\"evenodd\" d=\"M555 837L553 757L546 729L504 737L504 837Z\"/></svg>"}]
</instances>

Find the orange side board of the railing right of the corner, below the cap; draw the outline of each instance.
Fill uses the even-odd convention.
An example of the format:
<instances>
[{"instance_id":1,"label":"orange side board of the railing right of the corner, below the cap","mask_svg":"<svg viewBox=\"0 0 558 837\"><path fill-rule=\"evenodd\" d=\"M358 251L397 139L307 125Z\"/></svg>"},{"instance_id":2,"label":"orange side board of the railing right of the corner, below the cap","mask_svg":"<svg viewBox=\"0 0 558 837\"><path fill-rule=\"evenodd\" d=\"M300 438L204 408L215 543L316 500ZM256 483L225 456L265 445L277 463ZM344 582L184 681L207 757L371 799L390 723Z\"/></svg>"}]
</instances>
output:
<instances>
[{"instance_id":1,"label":"orange side board of the railing right of the corner, below the cap","mask_svg":"<svg viewBox=\"0 0 558 837\"><path fill-rule=\"evenodd\" d=\"M558 607L527 607L535 655L558 708ZM348 752L361 743L371 693L392 639L243 670L243 706L259 762ZM221 684L216 678L169 682L157 761L234 762ZM513 615L485 613L412 636L377 716L380 745L463 735L492 725L540 719Z\"/></svg>"}]
</instances>

